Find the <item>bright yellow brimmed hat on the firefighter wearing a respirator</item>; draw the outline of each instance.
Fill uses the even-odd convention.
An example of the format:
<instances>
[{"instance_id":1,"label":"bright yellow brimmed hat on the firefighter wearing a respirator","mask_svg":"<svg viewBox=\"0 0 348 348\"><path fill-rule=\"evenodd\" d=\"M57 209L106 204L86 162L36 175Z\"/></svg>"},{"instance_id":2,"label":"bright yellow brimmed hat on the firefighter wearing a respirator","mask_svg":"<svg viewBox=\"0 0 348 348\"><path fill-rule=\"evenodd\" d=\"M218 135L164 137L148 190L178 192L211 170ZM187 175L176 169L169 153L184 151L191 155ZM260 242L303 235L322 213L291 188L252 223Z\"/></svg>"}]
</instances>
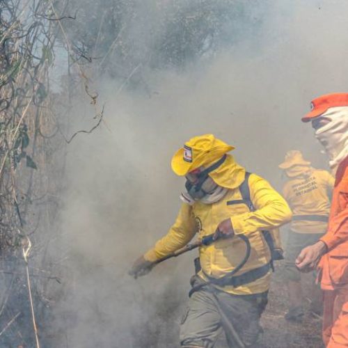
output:
<instances>
[{"instance_id":1,"label":"bright yellow brimmed hat on the firefighter wearing a respirator","mask_svg":"<svg viewBox=\"0 0 348 348\"><path fill-rule=\"evenodd\" d=\"M213 134L195 136L177 150L171 166L175 174L186 175L200 166L209 166L234 147L216 139Z\"/></svg>"}]
</instances>

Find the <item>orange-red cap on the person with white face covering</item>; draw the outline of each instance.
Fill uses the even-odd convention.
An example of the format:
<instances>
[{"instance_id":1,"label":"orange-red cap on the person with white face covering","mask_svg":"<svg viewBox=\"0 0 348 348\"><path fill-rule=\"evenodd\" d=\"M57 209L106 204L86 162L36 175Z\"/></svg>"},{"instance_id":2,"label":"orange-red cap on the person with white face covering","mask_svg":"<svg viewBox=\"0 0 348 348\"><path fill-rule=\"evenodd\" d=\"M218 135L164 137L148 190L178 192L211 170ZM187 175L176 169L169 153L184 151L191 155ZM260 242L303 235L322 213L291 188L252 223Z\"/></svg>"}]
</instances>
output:
<instances>
[{"instance_id":1,"label":"orange-red cap on the person with white face covering","mask_svg":"<svg viewBox=\"0 0 348 348\"><path fill-rule=\"evenodd\" d=\"M322 115L327 109L335 106L348 106L348 93L331 93L322 95L310 103L310 113L307 113L301 120L309 122L313 118Z\"/></svg>"}]
</instances>

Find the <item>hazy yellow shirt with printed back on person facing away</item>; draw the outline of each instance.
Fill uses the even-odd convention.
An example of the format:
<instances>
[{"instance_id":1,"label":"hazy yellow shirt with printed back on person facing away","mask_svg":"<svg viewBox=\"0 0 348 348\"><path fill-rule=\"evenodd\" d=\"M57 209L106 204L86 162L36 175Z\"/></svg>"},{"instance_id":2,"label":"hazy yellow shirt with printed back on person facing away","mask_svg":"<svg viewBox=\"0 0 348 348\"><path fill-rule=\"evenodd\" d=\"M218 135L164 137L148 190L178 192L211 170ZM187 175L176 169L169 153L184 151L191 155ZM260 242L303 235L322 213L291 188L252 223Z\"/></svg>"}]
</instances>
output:
<instances>
[{"instance_id":1,"label":"hazy yellow shirt with printed back on person facing away","mask_svg":"<svg viewBox=\"0 0 348 348\"><path fill-rule=\"evenodd\" d=\"M286 171L289 180L283 187L283 196L292 209L294 218L290 229L297 233L324 233L327 221L310 221L305 216L329 217L335 179L327 171L310 166L294 166ZM304 218L301 219L301 216Z\"/></svg>"}]
</instances>

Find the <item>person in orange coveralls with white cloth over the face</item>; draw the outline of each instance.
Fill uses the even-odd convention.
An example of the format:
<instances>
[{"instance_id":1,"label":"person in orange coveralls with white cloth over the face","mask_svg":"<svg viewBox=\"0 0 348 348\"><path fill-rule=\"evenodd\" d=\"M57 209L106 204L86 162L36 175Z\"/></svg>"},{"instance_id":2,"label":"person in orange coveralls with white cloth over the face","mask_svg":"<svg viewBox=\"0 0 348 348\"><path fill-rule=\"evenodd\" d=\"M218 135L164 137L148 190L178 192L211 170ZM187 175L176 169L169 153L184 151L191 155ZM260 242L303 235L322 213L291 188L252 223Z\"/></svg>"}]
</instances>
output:
<instances>
[{"instance_id":1,"label":"person in orange coveralls with white cloth over the face","mask_svg":"<svg viewBox=\"0 0 348 348\"><path fill-rule=\"evenodd\" d=\"M311 106L302 120L312 122L329 155L335 186L328 230L301 251L296 265L301 271L318 268L324 290L323 340L328 348L342 348L348 347L348 93L323 95Z\"/></svg>"}]
</instances>

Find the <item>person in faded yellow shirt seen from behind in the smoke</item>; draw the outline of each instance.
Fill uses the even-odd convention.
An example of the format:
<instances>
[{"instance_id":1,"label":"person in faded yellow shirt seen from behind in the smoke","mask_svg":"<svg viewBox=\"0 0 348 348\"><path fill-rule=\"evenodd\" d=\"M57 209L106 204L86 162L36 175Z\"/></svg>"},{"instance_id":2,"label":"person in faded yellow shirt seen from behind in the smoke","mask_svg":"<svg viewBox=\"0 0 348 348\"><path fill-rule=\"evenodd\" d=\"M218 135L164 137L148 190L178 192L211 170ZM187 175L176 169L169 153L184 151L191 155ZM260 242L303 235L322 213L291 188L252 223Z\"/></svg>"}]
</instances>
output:
<instances>
[{"instance_id":1,"label":"person in faded yellow shirt seen from behind in the smoke","mask_svg":"<svg viewBox=\"0 0 348 348\"><path fill-rule=\"evenodd\" d=\"M326 232L335 180L329 172L310 166L310 161L303 159L298 150L288 151L279 168L283 169L287 177L283 196L294 214L287 235L285 255L285 277L290 300L285 319L301 322L304 315L301 274L295 260L302 248L317 242ZM315 285L315 276L308 297L311 300L311 312L321 315L322 292Z\"/></svg>"}]
</instances>

